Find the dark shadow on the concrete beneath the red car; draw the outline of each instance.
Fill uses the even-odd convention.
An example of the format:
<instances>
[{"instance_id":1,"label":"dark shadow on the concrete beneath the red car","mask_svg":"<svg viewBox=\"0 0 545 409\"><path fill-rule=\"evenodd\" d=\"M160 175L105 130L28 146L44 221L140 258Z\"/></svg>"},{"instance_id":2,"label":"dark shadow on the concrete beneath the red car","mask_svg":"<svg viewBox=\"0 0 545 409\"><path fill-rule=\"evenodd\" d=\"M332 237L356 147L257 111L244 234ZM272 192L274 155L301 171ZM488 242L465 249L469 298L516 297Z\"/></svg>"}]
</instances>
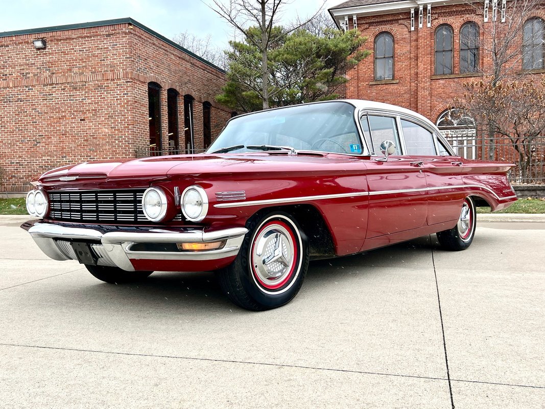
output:
<instances>
[{"instance_id":1,"label":"dark shadow on the concrete beneath the red car","mask_svg":"<svg viewBox=\"0 0 545 409\"><path fill-rule=\"evenodd\" d=\"M311 290L314 286L343 280L349 275L377 274L377 268L405 268L407 262L416 263L417 267L418 263L429 263L430 251L436 247L434 237L421 237L364 254L311 261L303 288ZM82 270L78 274L89 273ZM104 305L114 302L122 308L138 305L142 309L162 310L169 305L167 310L174 308L180 312L192 309L247 312L234 306L223 294L213 272L155 272L146 280L131 284L112 285L99 280L86 282L83 288L58 287L54 292L62 293L58 296L78 297L83 303Z\"/></svg>"}]
</instances>

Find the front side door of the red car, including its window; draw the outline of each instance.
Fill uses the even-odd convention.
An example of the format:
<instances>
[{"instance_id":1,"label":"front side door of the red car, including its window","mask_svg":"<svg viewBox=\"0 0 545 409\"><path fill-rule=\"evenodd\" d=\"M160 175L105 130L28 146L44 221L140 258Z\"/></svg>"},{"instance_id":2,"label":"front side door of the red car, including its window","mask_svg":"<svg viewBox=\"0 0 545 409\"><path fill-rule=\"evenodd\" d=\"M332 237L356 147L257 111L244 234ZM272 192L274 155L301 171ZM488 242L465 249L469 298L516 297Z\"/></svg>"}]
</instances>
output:
<instances>
[{"instance_id":1,"label":"front side door of the red car, including its window","mask_svg":"<svg viewBox=\"0 0 545 409\"><path fill-rule=\"evenodd\" d=\"M413 230L426 225L427 186L423 168L402 155L398 120L368 113L360 117L371 158L367 163L369 208L366 238ZM391 140L396 152L383 160L380 144Z\"/></svg>"}]
</instances>

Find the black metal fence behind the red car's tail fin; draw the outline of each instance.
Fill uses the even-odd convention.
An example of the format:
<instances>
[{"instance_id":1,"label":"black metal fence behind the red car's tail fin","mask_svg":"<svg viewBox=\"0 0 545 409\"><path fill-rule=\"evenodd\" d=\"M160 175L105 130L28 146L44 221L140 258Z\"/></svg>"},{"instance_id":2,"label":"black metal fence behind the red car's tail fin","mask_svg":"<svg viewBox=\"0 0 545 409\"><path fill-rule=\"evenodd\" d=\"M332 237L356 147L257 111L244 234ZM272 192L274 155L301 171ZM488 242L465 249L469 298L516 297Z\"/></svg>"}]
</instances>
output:
<instances>
[{"instance_id":1,"label":"black metal fence behind the red car's tail fin","mask_svg":"<svg viewBox=\"0 0 545 409\"><path fill-rule=\"evenodd\" d=\"M509 174L514 184L545 184L545 136L535 138L488 138L475 129L445 132L455 152L467 159L499 160L514 163Z\"/></svg>"}]
</instances>

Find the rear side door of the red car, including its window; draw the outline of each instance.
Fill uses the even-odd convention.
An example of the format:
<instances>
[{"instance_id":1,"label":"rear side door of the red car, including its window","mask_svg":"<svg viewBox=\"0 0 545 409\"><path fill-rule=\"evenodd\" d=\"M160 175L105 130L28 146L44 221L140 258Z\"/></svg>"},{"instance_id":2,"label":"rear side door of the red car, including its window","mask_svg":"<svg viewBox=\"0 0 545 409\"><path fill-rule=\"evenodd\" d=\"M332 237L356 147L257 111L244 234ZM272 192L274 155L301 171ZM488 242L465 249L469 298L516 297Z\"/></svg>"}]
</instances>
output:
<instances>
[{"instance_id":1,"label":"rear side door of the red car, including its window","mask_svg":"<svg viewBox=\"0 0 545 409\"><path fill-rule=\"evenodd\" d=\"M411 121L411 118L400 118L399 123L407 155L426 176L427 224L457 219L464 199L461 158L451 156L445 146L438 145L441 142L423 124Z\"/></svg>"}]
</instances>

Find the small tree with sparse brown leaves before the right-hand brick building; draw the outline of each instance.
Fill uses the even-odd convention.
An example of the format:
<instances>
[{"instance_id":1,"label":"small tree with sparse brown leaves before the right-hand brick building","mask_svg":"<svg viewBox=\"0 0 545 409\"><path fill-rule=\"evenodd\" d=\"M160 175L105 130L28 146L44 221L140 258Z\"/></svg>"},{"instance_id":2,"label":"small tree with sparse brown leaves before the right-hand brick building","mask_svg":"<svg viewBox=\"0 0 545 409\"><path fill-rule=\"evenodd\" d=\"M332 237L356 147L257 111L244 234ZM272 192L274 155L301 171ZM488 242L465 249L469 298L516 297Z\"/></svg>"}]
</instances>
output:
<instances>
[{"instance_id":1,"label":"small tree with sparse brown leaves before the right-hand brick building","mask_svg":"<svg viewBox=\"0 0 545 409\"><path fill-rule=\"evenodd\" d=\"M520 80L528 70L528 67L523 69L524 27L526 21L535 15L536 10L545 7L545 2L543 0L510 0L504 5L503 2L498 1L495 6L490 2L490 7L485 8L483 2L467 1L476 14L485 15L488 19L481 26L482 40L478 43L479 50L485 57L485 67L473 70L481 73L483 79L463 83L461 97L456 98L453 105L461 107L465 113L477 121L480 128L485 130L488 159L493 160L495 136L498 133L505 135L505 118L519 123L519 132L523 129L522 123L530 126L528 121L517 120L517 115L523 115L529 119L530 112L523 113L514 105L506 104L504 93L506 90L515 92L514 85L521 84ZM489 13L489 8L492 8L492 13ZM473 40L461 37L461 41L471 44ZM478 56L476 60L479 61ZM495 88L500 85L502 85L501 92L500 90L496 92ZM525 91L529 92L528 86ZM514 95L515 99L523 100L520 97L521 95ZM512 111L507 112L507 110ZM540 110L534 110L531 115L542 115L542 113ZM519 152L519 147L514 148Z\"/></svg>"}]
</instances>

